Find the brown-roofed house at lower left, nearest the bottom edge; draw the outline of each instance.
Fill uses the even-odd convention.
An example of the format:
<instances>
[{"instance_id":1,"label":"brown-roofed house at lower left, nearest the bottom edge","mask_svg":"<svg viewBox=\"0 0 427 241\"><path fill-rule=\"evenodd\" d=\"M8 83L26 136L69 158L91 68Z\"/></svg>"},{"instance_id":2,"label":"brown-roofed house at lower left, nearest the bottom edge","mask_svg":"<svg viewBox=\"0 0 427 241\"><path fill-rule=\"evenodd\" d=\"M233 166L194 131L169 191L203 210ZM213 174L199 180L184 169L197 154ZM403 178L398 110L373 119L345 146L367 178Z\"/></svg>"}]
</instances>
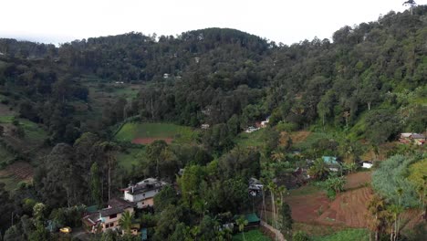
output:
<instances>
[{"instance_id":1,"label":"brown-roofed house at lower left, nearest the bottom edge","mask_svg":"<svg viewBox=\"0 0 427 241\"><path fill-rule=\"evenodd\" d=\"M132 214L134 204L120 198L113 198L109 200L107 208L85 215L82 221L91 233L105 232L109 229L115 230L120 226L121 215L127 211Z\"/></svg>"}]
</instances>

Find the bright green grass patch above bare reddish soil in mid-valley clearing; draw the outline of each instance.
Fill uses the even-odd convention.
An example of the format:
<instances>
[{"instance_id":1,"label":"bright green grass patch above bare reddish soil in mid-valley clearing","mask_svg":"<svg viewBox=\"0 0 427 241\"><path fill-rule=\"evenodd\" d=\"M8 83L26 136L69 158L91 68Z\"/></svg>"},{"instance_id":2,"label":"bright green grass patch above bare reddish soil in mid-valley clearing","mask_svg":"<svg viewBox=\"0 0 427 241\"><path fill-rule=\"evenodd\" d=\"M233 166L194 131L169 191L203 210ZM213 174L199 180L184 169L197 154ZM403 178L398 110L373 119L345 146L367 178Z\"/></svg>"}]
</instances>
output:
<instances>
[{"instance_id":1,"label":"bright green grass patch above bare reddish soil in mid-valley clearing","mask_svg":"<svg viewBox=\"0 0 427 241\"><path fill-rule=\"evenodd\" d=\"M175 142L192 142L197 132L186 126L170 123L141 123L124 124L116 134L118 141L132 141L137 138L173 138Z\"/></svg>"}]
</instances>

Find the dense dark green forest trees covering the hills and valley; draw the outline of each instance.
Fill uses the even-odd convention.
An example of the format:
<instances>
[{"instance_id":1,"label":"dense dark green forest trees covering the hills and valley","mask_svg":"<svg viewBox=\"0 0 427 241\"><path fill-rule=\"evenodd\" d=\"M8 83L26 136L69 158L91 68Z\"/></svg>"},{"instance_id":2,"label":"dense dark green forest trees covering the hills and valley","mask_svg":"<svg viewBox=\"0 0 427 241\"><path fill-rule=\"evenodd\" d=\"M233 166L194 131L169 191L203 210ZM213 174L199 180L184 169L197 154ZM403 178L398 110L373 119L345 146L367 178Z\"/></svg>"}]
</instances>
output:
<instances>
[{"instance_id":1,"label":"dense dark green forest trees covering the hills and valley","mask_svg":"<svg viewBox=\"0 0 427 241\"><path fill-rule=\"evenodd\" d=\"M7 162L0 159L0 167L35 166L32 183L20 183L13 192L0 183L0 240L57 240L60 236L45 228L47 220L81 225L83 205L102 206L128 183L152 176L173 183L156 195L154 210L139 216L141 225L152 227L152 240L230 240L219 226L254 209L247 195L251 177L268 186L272 200L285 194L274 180L289 179L283 173L296 168L334 186L340 177L323 162L307 166L305 160L338 155L345 172L353 173L363 152L379 152L401 132L427 131L425 39L426 5L343 26L331 40L290 46L227 28L176 37L131 32L59 47L0 39L0 114L12 113L10 120L0 117L0 144L13 154ZM109 98L123 86L136 86L137 93ZM94 88L108 99L100 106L91 98ZM262 148L242 148L239 134L266 118ZM26 121L47 133L29 151L15 144L32 138ZM132 170L123 170L115 162L117 153L137 144L114 136L132 121L210 128L198 132L192 144L153 141ZM301 150L284 135L301 130L333 133L333 138ZM377 203L418 207L425 192L422 196L417 188L425 188L425 176L423 183L412 182L401 169L425 164L425 148L396 148L387 158L372 175ZM177 175L180 169L184 172ZM392 172L396 175L386 186ZM403 184L402 199L391 194ZM342 185L326 189L335 196ZM292 237L289 207L280 200L272 204L283 218L276 227ZM391 225L390 231L390 221L381 218L370 229L375 237L399 237L399 228L393 231ZM405 238L419 237L413 236ZM104 234L93 240L132 238Z\"/></svg>"}]
</instances>

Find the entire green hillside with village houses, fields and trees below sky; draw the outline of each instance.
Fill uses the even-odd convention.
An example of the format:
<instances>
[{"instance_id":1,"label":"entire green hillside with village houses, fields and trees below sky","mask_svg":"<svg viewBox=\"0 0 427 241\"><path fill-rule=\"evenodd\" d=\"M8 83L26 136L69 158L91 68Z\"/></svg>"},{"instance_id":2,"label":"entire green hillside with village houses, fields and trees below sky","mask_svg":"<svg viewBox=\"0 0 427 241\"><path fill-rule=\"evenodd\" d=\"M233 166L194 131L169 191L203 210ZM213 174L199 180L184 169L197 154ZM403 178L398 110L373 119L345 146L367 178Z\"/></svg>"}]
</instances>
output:
<instances>
[{"instance_id":1,"label":"entire green hillside with village houses, fields and trees below sky","mask_svg":"<svg viewBox=\"0 0 427 241\"><path fill-rule=\"evenodd\" d=\"M0 241L425 240L427 5L284 45L0 38Z\"/></svg>"}]
</instances>

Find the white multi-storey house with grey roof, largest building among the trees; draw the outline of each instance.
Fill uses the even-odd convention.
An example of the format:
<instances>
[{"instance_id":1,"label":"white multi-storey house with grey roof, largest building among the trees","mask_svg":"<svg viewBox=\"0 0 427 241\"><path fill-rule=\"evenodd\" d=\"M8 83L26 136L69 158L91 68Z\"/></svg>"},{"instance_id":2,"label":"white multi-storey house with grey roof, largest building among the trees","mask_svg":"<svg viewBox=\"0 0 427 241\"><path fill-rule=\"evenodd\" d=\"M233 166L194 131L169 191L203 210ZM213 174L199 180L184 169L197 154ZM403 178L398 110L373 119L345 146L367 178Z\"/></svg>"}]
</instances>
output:
<instances>
[{"instance_id":1,"label":"white multi-storey house with grey roof, largest building among the trees","mask_svg":"<svg viewBox=\"0 0 427 241\"><path fill-rule=\"evenodd\" d=\"M135 204L138 208L154 206L154 196L161 191L161 188L167 183L155 178L147 178L140 183L130 184L122 189L123 199Z\"/></svg>"}]
</instances>

